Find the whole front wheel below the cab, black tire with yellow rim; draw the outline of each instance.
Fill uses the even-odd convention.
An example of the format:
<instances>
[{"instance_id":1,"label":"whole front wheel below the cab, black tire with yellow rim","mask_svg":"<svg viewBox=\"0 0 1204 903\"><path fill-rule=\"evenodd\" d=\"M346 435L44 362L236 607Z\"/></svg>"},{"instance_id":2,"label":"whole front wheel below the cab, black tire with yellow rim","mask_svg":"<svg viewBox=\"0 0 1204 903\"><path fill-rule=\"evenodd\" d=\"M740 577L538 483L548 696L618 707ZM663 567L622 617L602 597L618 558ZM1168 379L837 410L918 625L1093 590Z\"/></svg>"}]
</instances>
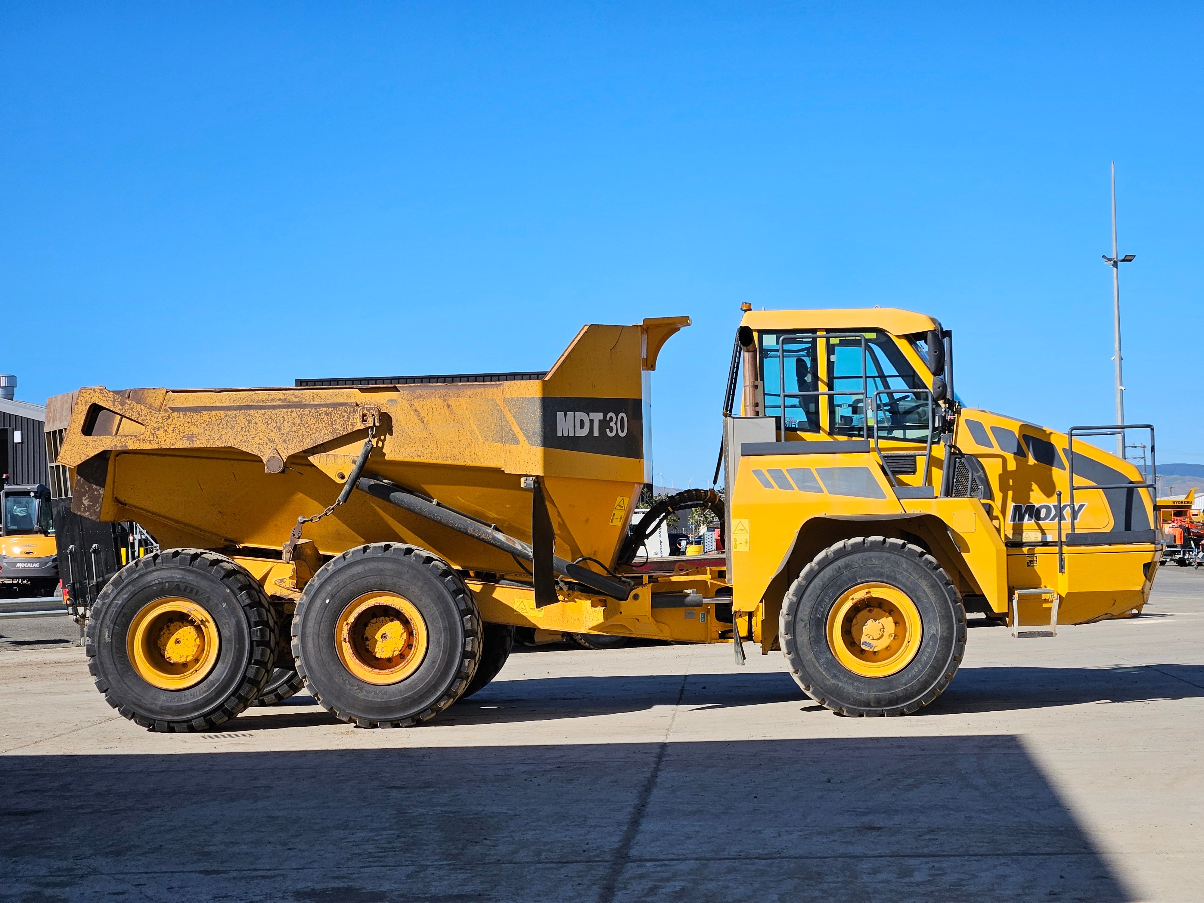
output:
<instances>
[{"instance_id":1,"label":"whole front wheel below the cab, black tire with yellow rim","mask_svg":"<svg viewBox=\"0 0 1204 903\"><path fill-rule=\"evenodd\" d=\"M903 715L954 679L966 651L966 609L927 551L858 537L803 568L783 601L779 633L791 674L821 706Z\"/></svg>"}]
</instances>

